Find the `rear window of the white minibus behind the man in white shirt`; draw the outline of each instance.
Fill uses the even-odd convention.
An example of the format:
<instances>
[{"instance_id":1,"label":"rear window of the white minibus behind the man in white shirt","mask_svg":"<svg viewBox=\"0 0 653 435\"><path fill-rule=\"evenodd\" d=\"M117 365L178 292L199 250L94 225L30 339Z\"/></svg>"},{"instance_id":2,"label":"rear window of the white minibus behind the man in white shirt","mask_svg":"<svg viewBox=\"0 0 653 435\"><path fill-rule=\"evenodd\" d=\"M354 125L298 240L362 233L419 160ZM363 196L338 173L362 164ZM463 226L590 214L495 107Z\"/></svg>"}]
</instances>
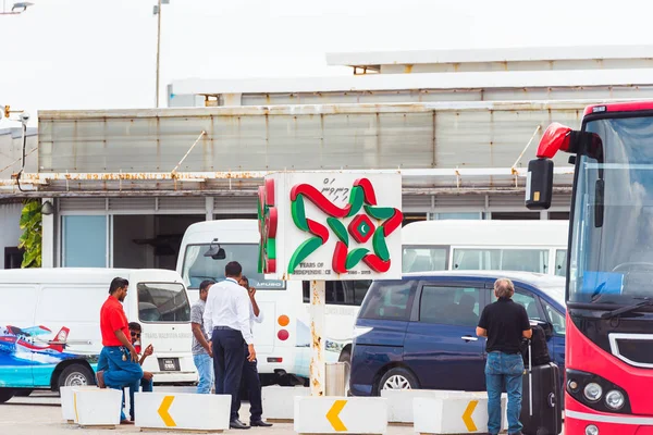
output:
<instances>
[{"instance_id":1,"label":"rear window of the white minibus behind the man in white shirt","mask_svg":"<svg viewBox=\"0 0 653 435\"><path fill-rule=\"evenodd\" d=\"M184 269L182 277L188 288L199 288L205 279L220 282L224 279L224 266L231 261L237 261L243 266L243 275L249 279L249 285L256 289L284 289L283 281L266 279L258 273L258 245L255 244L221 244L226 258L213 260L205 257L210 244L188 245L184 252Z\"/></svg>"}]
</instances>

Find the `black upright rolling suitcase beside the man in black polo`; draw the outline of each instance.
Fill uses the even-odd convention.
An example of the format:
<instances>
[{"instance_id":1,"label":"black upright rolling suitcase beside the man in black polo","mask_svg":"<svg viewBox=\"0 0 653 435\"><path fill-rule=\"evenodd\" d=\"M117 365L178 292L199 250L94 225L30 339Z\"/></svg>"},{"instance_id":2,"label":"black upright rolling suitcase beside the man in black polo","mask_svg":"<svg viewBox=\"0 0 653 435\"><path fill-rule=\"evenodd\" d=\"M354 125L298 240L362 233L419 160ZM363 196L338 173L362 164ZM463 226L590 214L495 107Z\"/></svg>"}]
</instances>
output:
<instances>
[{"instance_id":1,"label":"black upright rolling suitcase beside the man in black polo","mask_svg":"<svg viewBox=\"0 0 653 435\"><path fill-rule=\"evenodd\" d=\"M521 414L525 435L558 435L563 432L563 394L559 368L553 362L533 365L530 358L523 374Z\"/></svg>"}]
</instances>

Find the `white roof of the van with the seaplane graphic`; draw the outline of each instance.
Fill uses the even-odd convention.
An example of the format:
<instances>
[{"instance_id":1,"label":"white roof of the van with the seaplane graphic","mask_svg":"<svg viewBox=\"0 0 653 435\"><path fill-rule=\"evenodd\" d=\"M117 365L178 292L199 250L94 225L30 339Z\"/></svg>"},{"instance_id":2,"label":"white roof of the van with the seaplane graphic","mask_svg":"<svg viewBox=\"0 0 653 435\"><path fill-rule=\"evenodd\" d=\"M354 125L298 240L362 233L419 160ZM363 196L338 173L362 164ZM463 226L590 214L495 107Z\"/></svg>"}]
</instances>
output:
<instances>
[{"instance_id":1,"label":"white roof of the van with the seaplane graphic","mask_svg":"<svg viewBox=\"0 0 653 435\"><path fill-rule=\"evenodd\" d=\"M44 268L10 269L0 271L0 284L98 284L120 276L131 281L182 283L175 271L165 269L106 269L106 268ZM132 285L136 283L130 283Z\"/></svg>"}]
</instances>

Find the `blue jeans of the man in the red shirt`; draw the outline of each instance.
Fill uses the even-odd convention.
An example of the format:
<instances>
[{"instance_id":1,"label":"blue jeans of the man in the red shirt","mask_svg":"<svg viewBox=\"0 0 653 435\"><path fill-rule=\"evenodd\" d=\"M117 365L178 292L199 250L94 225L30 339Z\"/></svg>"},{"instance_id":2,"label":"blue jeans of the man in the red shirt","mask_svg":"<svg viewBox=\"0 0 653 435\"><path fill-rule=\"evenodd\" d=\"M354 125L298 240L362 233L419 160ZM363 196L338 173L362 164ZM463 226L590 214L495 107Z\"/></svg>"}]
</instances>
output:
<instances>
[{"instance_id":1,"label":"blue jeans of the man in the red shirt","mask_svg":"<svg viewBox=\"0 0 653 435\"><path fill-rule=\"evenodd\" d=\"M122 360L123 355L126 356L126 361ZM130 390L138 390L140 378L143 377L140 364L132 361L130 359L130 351L122 346L103 347L98 358L97 371L104 372L104 384L107 387L113 389L130 387ZM126 420L122 408L120 420Z\"/></svg>"}]
</instances>

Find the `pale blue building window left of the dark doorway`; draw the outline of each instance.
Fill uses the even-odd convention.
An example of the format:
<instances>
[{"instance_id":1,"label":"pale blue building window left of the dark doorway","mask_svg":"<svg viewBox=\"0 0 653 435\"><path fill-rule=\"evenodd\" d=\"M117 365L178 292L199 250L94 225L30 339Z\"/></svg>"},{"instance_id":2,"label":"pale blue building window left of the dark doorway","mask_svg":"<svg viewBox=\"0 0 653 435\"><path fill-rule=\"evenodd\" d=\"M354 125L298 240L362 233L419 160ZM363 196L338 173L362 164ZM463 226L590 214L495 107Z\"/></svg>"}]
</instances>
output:
<instances>
[{"instance_id":1,"label":"pale blue building window left of the dark doorway","mask_svg":"<svg viewBox=\"0 0 653 435\"><path fill-rule=\"evenodd\" d=\"M108 216L64 215L62 265L64 268L108 268Z\"/></svg>"}]
</instances>

